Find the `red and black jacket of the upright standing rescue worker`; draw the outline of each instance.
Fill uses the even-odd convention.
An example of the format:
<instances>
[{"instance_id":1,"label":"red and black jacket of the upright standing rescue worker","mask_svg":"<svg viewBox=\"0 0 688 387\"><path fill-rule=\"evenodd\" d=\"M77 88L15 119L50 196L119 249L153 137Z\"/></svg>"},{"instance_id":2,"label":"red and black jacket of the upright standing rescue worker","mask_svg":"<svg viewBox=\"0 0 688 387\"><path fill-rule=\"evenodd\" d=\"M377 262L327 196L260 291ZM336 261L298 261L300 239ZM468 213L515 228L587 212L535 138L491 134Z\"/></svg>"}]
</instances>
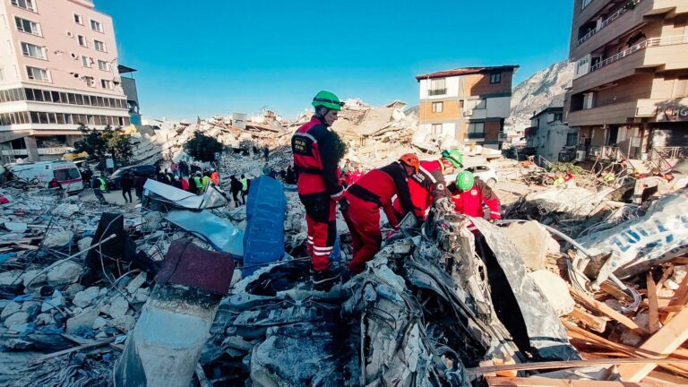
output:
<instances>
[{"instance_id":1,"label":"red and black jacket of the upright standing rescue worker","mask_svg":"<svg viewBox=\"0 0 688 387\"><path fill-rule=\"evenodd\" d=\"M328 193L339 199L344 193L340 185L339 158L334 134L313 116L291 137L294 166L298 169L298 193Z\"/></svg>"}]
</instances>

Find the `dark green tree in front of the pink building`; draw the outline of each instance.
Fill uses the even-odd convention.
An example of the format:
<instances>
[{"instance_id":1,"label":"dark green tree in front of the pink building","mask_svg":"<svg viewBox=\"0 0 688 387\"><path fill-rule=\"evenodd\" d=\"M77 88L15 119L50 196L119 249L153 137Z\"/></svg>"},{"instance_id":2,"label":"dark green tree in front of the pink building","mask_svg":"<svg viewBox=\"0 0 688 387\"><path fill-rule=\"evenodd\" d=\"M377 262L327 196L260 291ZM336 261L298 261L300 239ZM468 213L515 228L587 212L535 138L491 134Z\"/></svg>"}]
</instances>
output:
<instances>
[{"instance_id":1,"label":"dark green tree in front of the pink building","mask_svg":"<svg viewBox=\"0 0 688 387\"><path fill-rule=\"evenodd\" d=\"M103 130L90 129L81 125L81 140L74 142L77 152L85 151L90 157L103 161L111 157L119 165L127 165L133 157L133 146L130 137L122 133L121 129L113 130L107 125Z\"/></svg>"}]
</instances>

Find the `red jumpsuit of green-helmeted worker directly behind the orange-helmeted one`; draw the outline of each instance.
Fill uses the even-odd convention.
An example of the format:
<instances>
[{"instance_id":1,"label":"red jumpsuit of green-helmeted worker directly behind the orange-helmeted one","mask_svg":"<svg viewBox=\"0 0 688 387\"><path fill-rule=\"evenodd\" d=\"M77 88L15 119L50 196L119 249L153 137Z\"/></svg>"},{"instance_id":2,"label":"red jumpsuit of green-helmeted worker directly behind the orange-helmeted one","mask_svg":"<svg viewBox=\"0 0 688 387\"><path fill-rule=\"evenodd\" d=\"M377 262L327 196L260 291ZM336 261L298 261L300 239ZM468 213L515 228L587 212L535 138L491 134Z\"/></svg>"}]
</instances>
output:
<instances>
[{"instance_id":1,"label":"red jumpsuit of green-helmeted worker directly behind the orange-helmeted one","mask_svg":"<svg viewBox=\"0 0 688 387\"><path fill-rule=\"evenodd\" d=\"M426 210L436 199L448 197L444 183L443 165L441 160L421 161L420 170L409 178L409 193L415 208L414 213L419 219L426 218ZM394 210L401 212L399 201L394 201Z\"/></svg>"}]
</instances>

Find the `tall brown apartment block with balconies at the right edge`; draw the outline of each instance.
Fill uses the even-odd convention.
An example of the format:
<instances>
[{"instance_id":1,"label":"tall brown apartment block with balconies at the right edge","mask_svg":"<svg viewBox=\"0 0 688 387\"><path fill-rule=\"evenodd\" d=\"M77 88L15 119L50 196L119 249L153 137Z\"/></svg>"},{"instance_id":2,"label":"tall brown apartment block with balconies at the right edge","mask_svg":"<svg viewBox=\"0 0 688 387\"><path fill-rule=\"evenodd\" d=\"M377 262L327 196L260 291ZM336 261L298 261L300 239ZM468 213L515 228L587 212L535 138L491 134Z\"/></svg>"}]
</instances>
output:
<instances>
[{"instance_id":1,"label":"tall brown apartment block with balconies at the right edge","mask_svg":"<svg viewBox=\"0 0 688 387\"><path fill-rule=\"evenodd\" d=\"M688 1L574 0L565 120L590 156L685 157Z\"/></svg>"}]
</instances>

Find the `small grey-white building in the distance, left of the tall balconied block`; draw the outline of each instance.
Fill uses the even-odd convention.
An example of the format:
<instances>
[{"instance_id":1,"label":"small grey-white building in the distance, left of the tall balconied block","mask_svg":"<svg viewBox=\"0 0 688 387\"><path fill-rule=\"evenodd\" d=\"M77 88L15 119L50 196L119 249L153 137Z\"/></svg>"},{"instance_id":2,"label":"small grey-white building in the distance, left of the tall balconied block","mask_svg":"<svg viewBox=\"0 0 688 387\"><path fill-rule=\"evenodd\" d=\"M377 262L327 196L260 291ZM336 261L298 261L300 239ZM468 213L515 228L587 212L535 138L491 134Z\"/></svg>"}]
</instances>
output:
<instances>
[{"instance_id":1,"label":"small grey-white building in the distance, left of the tall balconied block","mask_svg":"<svg viewBox=\"0 0 688 387\"><path fill-rule=\"evenodd\" d=\"M578 129L563 123L563 107L547 107L532 116L525 136L525 151L549 162L564 161L560 159L562 150L578 144Z\"/></svg>"}]
</instances>

